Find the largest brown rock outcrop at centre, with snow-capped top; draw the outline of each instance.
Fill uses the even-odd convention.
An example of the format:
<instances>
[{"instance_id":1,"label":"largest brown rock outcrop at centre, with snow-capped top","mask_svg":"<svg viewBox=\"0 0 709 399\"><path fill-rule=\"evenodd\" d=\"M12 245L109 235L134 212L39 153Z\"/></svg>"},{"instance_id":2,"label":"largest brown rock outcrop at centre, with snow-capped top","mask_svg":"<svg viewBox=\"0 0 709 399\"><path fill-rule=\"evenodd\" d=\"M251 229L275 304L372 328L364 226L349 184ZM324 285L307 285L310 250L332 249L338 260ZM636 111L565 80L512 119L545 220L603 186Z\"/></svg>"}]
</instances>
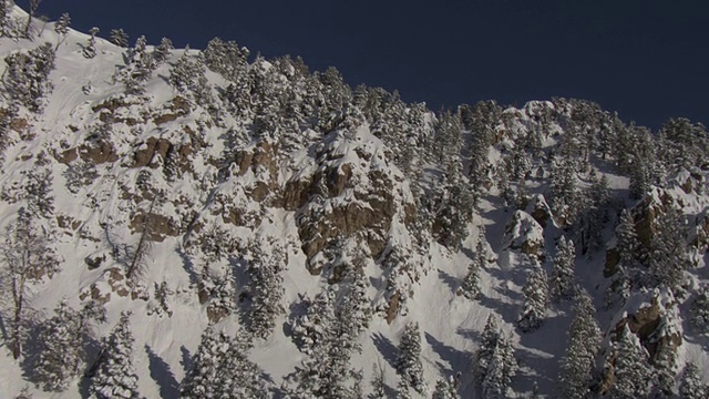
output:
<instances>
[{"instance_id":1,"label":"largest brown rock outcrop at centre, with snow-capped top","mask_svg":"<svg viewBox=\"0 0 709 399\"><path fill-rule=\"evenodd\" d=\"M298 232L314 275L322 269L316 255L338 239L361 239L379 258L392 223L405 223L415 213L379 140L360 133L357 139L331 133L311 172L296 175L284 188L282 206L299 209Z\"/></svg>"}]
</instances>

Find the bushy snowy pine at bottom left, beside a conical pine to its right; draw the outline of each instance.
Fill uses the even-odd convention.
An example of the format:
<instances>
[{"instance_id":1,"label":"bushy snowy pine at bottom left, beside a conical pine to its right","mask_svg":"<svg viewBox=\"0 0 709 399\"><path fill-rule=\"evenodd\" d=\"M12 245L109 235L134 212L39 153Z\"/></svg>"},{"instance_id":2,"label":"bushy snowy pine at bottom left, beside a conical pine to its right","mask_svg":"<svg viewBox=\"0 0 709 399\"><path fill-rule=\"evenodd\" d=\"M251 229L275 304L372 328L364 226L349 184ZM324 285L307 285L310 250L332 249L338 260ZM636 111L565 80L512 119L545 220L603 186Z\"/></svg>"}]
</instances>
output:
<instances>
[{"instance_id":1,"label":"bushy snowy pine at bottom left, beside a conical pine to its right","mask_svg":"<svg viewBox=\"0 0 709 399\"><path fill-rule=\"evenodd\" d=\"M40 332L41 345L35 372L44 390L62 391L79 376L85 361L86 340L95 323L105 320L101 305L90 301L80 311L62 300Z\"/></svg>"}]
</instances>

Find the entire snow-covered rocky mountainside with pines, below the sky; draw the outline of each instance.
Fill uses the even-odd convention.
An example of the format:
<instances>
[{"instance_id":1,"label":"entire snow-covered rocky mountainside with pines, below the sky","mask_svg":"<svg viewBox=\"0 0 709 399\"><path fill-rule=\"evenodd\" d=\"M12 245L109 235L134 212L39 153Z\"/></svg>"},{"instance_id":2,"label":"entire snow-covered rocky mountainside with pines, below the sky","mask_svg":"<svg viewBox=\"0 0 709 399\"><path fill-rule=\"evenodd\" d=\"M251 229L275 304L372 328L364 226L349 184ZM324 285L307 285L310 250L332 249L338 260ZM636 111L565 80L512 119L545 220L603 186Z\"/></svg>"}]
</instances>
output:
<instances>
[{"instance_id":1,"label":"entire snow-covered rocky mountainside with pines, below the sky","mask_svg":"<svg viewBox=\"0 0 709 399\"><path fill-rule=\"evenodd\" d=\"M688 365L709 383L700 124L565 99L436 114L217 39L25 38L4 9L0 397L209 397L195 376L227 398L572 395L559 376L672 397Z\"/></svg>"}]
</instances>

